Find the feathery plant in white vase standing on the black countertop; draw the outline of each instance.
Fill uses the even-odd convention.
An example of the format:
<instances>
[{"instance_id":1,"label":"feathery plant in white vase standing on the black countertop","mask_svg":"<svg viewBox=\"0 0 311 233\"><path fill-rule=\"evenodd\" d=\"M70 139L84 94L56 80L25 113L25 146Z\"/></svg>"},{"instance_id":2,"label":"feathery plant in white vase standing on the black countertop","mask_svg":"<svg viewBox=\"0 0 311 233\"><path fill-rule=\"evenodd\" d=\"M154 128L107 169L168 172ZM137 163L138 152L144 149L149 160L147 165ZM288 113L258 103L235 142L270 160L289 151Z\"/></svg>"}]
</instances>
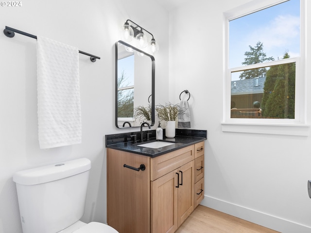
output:
<instances>
[{"instance_id":1,"label":"feathery plant in white vase standing on the black countertop","mask_svg":"<svg viewBox=\"0 0 311 233\"><path fill-rule=\"evenodd\" d=\"M160 120L166 121L165 136L173 138L175 136L175 122L179 114L178 104L166 103L165 106L159 104L155 107Z\"/></svg>"}]
</instances>

